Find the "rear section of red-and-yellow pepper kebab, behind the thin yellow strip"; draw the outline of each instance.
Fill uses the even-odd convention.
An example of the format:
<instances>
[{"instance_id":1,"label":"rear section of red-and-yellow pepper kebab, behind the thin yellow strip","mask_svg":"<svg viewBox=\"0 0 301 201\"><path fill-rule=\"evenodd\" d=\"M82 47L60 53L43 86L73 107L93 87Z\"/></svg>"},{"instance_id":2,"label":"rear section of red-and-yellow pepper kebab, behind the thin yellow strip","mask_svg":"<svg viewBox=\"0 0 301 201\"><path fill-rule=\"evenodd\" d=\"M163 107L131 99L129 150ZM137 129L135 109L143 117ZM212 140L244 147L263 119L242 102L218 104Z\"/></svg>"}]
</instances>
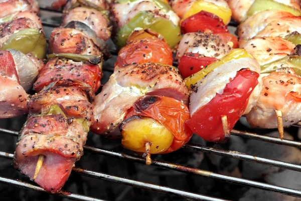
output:
<instances>
[{"instance_id":1,"label":"rear section of red-and-yellow pepper kebab, behind the thin yellow strip","mask_svg":"<svg viewBox=\"0 0 301 201\"><path fill-rule=\"evenodd\" d=\"M231 10L224 0L171 2L181 20L184 33L176 59L184 78L237 48L237 38L229 33ZM183 9L184 8L184 9Z\"/></svg>"}]
</instances>

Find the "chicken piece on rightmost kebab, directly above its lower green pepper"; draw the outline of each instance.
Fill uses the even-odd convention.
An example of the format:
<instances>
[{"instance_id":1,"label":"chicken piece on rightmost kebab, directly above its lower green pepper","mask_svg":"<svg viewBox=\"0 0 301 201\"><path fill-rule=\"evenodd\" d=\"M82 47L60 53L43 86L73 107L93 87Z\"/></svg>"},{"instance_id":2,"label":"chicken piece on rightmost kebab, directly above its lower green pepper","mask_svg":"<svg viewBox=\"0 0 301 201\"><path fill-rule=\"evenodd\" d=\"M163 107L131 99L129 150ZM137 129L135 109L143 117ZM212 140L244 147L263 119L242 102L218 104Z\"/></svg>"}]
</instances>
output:
<instances>
[{"instance_id":1,"label":"chicken piece on rightmost kebab, directly above its lower green pepper","mask_svg":"<svg viewBox=\"0 0 301 201\"><path fill-rule=\"evenodd\" d=\"M294 44L279 37L253 38L243 45L243 48L260 64L261 73L281 68L284 62L276 61L294 53L294 47Z\"/></svg>"}]
</instances>

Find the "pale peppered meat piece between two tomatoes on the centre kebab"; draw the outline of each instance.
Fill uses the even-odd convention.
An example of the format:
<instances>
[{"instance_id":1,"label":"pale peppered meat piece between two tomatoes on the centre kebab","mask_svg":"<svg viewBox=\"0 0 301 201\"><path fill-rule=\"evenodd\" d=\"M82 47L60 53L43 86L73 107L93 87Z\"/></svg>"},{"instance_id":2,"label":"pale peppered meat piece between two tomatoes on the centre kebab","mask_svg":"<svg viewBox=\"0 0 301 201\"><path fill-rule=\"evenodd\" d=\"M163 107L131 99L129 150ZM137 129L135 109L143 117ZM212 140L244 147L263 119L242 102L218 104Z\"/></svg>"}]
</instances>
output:
<instances>
[{"instance_id":1,"label":"pale peppered meat piece between two tomatoes on the centre kebab","mask_svg":"<svg viewBox=\"0 0 301 201\"><path fill-rule=\"evenodd\" d=\"M91 130L120 137L115 129L127 110L145 94L173 97L188 104L188 89L174 67L154 63L115 66L109 81L96 96L95 124Z\"/></svg>"}]
</instances>

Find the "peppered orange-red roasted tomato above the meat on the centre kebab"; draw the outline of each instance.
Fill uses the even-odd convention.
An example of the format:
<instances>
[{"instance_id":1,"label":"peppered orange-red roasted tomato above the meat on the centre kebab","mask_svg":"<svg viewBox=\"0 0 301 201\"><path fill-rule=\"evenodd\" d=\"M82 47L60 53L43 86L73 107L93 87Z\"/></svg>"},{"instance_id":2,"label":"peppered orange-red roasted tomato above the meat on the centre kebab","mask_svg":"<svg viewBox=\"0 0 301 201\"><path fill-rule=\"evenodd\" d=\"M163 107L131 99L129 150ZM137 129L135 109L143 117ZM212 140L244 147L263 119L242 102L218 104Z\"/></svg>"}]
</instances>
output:
<instances>
[{"instance_id":1,"label":"peppered orange-red roasted tomato above the meat on the centre kebab","mask_svg":"<svg viewBox=\"0 0 301 201\"><path fill-rule=\"evenodd\" d=\"M121 48L115 65L129 63L162 63L173 65L173 52L169 45L159 38L142 38Z\"/></svg>"}]
</instances>

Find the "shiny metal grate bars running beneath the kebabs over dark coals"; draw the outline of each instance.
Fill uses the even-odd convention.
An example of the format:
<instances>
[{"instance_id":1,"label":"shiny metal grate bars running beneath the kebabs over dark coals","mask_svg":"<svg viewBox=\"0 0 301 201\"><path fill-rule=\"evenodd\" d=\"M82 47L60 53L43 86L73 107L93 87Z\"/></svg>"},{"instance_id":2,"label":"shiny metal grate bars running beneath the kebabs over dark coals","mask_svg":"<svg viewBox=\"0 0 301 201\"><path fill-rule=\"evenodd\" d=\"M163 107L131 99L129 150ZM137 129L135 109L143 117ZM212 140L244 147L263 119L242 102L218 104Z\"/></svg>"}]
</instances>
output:
<instances>
[{"instance_id":1,"label":"shiny metal grate bars running beneath the kebabs over dark coals","mask_svg":"<svg viewBox=\"0 0 301 201\"><path fill-rule=\"evenodd\" d=\"M45 12L60 13L58 11L54 11L49 8L41 8L41 10L45 11ZM47 28L54 28L54 27L59 26L59 24L57 22L51 22L51 21L49 22L48 19L42 20L42 24L44 27L47 27ZM235 24L235 23L232 23L230 25L237 26L237 24ZM111 52L113 55L116 55L116 50L111 50ZM177 63L175 62L174 64L176 65ZM112 68L108 68L105 66L103 67L103 71L106 71L108 73L113 72ZM297 123L294 126L301 127L301 124ZM18 131L0 128L0 132L18 137ZM256 139L256 140L260 140L260 141L275 143L275 144L279 144L279 145L286 145L286 146L297 147L297 148L301 147L301 142L285 140L285 139L281 140L280 138L265 136L265 135L258 135L256 133L248 133L248 132L243 132L243 131L238 131L238 130L232 130L231 134L240 136L240 137L244 137L244 138L251 138L251 139ZM251 161L251 162L256 162L256 163L261 163L261 164L265 164L265 165L270 165L270 166L275 166L275 167L279 167L279 168L284 168L284 169L301 172L301 165L296 165L296 164L291 164L291 163L282 162L282 161L278 161L278 160L271 160L271 159L261 158L261 157L257 157L257 156L247 155L247 154L240 153L237 151L228 151L228 150L224 150L224 149L212 148L212 147L197 145L197 144L192 144L192 143L188 143L187 145L185 145L183 147L183 149L190 149L190 150L194 150L194 151L198 151L198 152L205 152L205 153L210 153L210 154L215 154L215 155L220 155L220 156L226 156L226 157L231 157L231 158L236 158L236 159L241 159L241 160L246 160L246 161ZM132 162L136 162L136 163L142 163L142 164L145 163L145 159L143 159L142 157L139 157L139 156L114 152L114 151L101 149L101 148L95 148L95 147L91 147L91 146L84 146L84 150L88 151L88 152L96 153L96 154L101 154L101 155L105 155L105 156L110 156L110 157L115 157L115 158L119 158L119 159L132 161ZM0 157L7 158L7 159L13 159L14 155L11 153L6 153L6 152L0 151ZM233 182L233 183L241 184L241 185L245 185L245 186L257 187L257 188L261 188L261 189L265 189L265 190L270 190L270 191L280 192L280 193L287 194L287 195L301 197L301 191L296 190L296 189L271 185L271 184L258 182L258 181L252 181L252 180L243 179L243 178L226 176L226 175L214 173L214 172L207 171L207 170L186 167L183 165L177 165L174 163L169 163L169 162L160 161L160 160L153 160L152 165L156 166L156 167L160 167L160 168L165 168L168 170L175 170L175 171L184 172L184 173L188 173L188 174L201 175L201 176L205 176L205 177L209 177L209 178L213 178L213 179L223 180L223 181L227 181L227 182ZM113 181L113 182L117 182L117 183L131 185L131 186L137 187L137 188L143 188L143 189L168 193L168 194L172 194L172 195L177 195L179 197L183 197L183 198L186 198L189 200L211 200L211 201L225 200L225 199L215 198L215 197L211 197L211 196L207 196L207 195L192 193L192 192L188 192L188 191L184 191L184 190L178 190L178 189L174 189L174 188L170 188L170 187L166 187L166 186L160 186L160 185L155 185L155 184L151 184L151 183L145 183L145 182L136 181L136 180L132 180L132 179L113 176L113 175L109 175L109 174L105 174L105 173L101 173L101 172L90 171L90 170L86 170L86 169L83 169L80 167L74 167L72 169L72 171L73 171L73 173L81 174L84 176L89 176L89 177L94 177L94 178L103 179L103 180L107 180L107 181ZM32 189L32 190L36 190L36 191L40 191L40 192L46 192L43 188L41 188L39 186L33 185L31 183L23 182L23 181L11 179L11 178L0 177L0 182L14 185L17 187ZM103 200L103 199L93 198L90 196L76 194L76 193L67 192L67 191L62 191L61 193L59 193L57 195L66 197L69 199L74 199L74 200L87 200L87 201Z\"/></svg>"}]
</instances>

